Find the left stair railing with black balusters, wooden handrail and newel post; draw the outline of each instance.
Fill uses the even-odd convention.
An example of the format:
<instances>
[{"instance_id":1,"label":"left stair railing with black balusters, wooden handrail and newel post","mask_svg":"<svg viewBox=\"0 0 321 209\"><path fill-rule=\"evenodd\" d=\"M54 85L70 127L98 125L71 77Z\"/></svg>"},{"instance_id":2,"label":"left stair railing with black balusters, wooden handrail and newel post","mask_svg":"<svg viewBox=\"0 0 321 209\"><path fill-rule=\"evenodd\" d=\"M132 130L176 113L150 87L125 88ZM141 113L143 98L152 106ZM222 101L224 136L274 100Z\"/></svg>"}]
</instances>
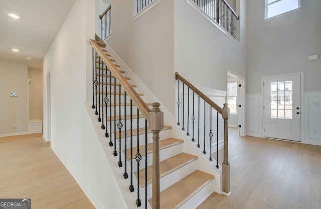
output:
<instances>
[{"instance_id":1,"label":"left stair railing with black balusters, wooden handrail and newel post","mask_svg":"<svg viewBox=\"0 0 321 209\"><path fill-rule=\"evenodd\" d=\"M96 39L99 39L99 37L96 36ZM104 45L102 40L90 40L90 44L93 48L92 108L95 110L94 113L98 116L101 128L105 130L105 137L109 138L109 146L113 147L113 155L118 157L118 166L124 167L123 177L125 179L130 177L130 184L128 185L130 192L135 190L137 192L137 206L142 205L139 167L143 157L145 160L142 165L145 168L148 167L147 133L152 132L153 175L151 198L152 208L159 208L159 132L164 127L164 116L159 109L160 104L157 102L146 104L141 99L132 85L128 83L127 79L129 78L122 75L123 72L117 69L115 64L108 58L110 55L100 48L100 46ZM127 103L128 100L129 103ZM150 110L148 106L152 106L152 109ZM136 111L133 110L134 107L136 107ZM133 124L133 119L137 119L136 126ZM127 129L128 126L129 129ZM144 140L139 140L140 138L143 139L141 136L144 136ZM127 160L130 161L129 171L127 170ZM133 166L137 168L137 185L134 185L133 182ZM147 208L147 169L145 169L145 178L143 180L145 182L143 201L145 208Z\"/></svg>"}]
</instances>

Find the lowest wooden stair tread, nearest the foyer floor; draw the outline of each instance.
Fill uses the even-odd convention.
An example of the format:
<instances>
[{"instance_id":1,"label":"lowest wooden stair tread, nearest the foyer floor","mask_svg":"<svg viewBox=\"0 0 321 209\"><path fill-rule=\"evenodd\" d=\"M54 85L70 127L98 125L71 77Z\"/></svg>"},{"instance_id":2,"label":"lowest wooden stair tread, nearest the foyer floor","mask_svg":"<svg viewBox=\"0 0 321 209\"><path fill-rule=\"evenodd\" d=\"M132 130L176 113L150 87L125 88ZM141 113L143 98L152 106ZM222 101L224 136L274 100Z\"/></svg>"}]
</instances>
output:
<instances>
[{"instance_id":1,"label":"lowest wooden stair tread, nearest the foyer floor","mask_svg":"<svg viewBox=\"0 0 321 209\"><path fill-rule=\"evenodd\" d=\"M161 192L161 208L179 208L212 179L209 173L194 171ZM148 201L151 204L151 198Z\"/></svg>"}]
</instances>

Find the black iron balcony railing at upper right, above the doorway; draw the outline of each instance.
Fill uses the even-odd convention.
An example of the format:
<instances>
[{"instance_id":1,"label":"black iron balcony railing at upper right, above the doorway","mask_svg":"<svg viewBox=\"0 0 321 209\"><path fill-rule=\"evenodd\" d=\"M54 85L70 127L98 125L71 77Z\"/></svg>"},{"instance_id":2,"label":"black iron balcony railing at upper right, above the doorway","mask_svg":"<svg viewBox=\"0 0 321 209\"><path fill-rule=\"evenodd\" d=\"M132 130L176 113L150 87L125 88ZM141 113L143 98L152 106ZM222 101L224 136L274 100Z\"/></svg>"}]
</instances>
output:
<instances>
[{"instance_id":1,"label":"black iron balcony railing at upper right, above the doorway","mask_svg":"<svg viewBox=\"0 0 321 209\"><path fill-rule=\"evenodd\" d=\"M225 0L191 0L210 18L215 20L231 36L238 40L238 20L240 16Z\"/></svg>"}]
</instances>

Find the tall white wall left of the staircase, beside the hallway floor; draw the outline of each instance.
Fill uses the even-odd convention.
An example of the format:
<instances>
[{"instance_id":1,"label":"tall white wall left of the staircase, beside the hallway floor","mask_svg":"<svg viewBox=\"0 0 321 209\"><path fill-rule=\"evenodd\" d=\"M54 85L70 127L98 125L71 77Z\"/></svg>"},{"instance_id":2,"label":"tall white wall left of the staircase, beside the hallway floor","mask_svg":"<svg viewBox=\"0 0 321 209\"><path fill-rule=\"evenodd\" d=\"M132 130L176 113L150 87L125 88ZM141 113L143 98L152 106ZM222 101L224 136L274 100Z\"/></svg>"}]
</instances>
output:
<instances>
[{"instance_id":1,"label":"tall white wall left of the staircase, beside the hallway floor","mask_svg":"<svg viewBox=\"0 0 321 209\"><path fill-rule=\"evenodd\" d=\"M50 72L52 149L96 208L125 208L84 105L87 79L91 80L86 74L92 70L89 38L95 37L94 15L93 0L77 0L48 50L43 62L44 107ZM45 131L47 117L45 110Z\"/></svg>"}]
</instances>

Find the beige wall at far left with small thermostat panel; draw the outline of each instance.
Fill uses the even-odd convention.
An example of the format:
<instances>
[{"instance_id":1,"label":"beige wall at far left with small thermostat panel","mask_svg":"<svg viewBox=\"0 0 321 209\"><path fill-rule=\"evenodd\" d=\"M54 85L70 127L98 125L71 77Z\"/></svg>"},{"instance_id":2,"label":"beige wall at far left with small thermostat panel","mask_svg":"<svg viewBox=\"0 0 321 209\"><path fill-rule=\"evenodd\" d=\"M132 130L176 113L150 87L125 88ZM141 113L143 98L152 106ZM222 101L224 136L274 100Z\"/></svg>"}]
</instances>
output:
<instances>
[{"instance_id":1,"label":"beige wall at far left with small thermostat panel","mask_svg":"<svg viewBox=\"0 0 321 209\"><path fill-rule=\"evenodd\" d=\"M18 93L11 97L10 92ZM16 124L16 128L13 128ZM28 132L28 67L0 60L0 136Z\"/></svg>"}]
</instances>

